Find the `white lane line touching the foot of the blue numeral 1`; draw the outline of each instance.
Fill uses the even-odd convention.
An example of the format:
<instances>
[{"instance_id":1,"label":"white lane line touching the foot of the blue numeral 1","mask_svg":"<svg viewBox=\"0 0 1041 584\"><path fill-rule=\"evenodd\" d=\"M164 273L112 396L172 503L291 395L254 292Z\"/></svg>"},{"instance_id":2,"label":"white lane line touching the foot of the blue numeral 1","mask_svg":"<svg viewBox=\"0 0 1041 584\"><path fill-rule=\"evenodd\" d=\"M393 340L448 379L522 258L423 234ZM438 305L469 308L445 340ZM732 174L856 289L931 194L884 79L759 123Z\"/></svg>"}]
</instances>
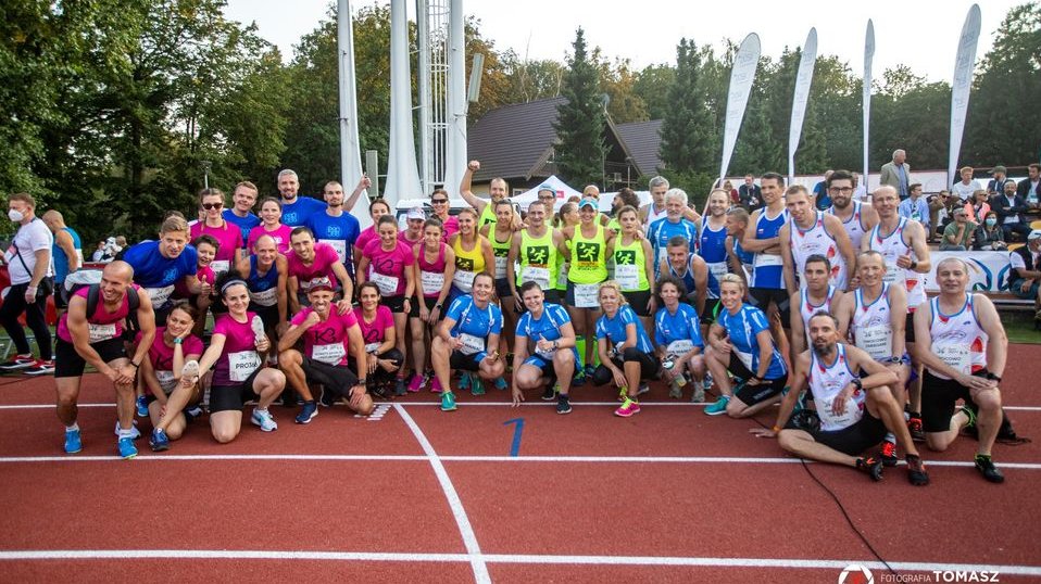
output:
<instances>
[{"instance_id":1,"label":"white lane line touching the foot of the blue numeral 1","mask_svg":"<svg viewBox=\"0 0 1041 584\"><path fill-rule=\"evenodd\" d=\"M411 420L411 418L410 418ZM415 423L413 421L413 423ZM429 442L427 442L429 445ZM426 452L426 448L424 448ZM431 450L432 452L432 447ZM798 465L800 460L791 457L741 457L741 456L437 456L438 461L449 462L589 462L589 464L672 464L672 465ZM135 460L143 462L162 461L205 461L205 460L309 460L309 461L371 461L371 462L423 462L430 455L340 455L340 454L217 454L217 455L167 455L141 453ZM110 462L126 464L118 456L4 456L0 464L16 462ZM816 464L807 461L810 464ZM904 462L900 462L903 465ZM974 462L962 460L926 460L931 467L973 468ZM1003 469L1041 470L1041 464L1002 462Z\"/></svg>"}]
</instances>

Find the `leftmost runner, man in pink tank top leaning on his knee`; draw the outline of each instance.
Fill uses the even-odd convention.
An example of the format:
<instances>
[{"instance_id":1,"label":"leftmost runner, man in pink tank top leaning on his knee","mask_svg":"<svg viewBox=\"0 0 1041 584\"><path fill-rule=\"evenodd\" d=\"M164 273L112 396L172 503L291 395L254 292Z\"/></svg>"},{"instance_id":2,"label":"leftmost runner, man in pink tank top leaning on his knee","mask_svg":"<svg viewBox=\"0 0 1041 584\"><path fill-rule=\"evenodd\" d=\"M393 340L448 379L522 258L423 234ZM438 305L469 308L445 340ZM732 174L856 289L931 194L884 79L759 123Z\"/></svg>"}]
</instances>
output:
<instances>
[{"instance_id":1,"label":"leftmost runner, man in pink tank top leaning on his knee","mask_svg":"<svg viewBox=\"0 0 1041 584\"><path fill-rule=\"evenodd\" d=\"M76 423L76 403L84 367L89 363L115 388L120 456L137 456L134 439L139 434L133 424L134 380L155 337L155 321L148 293L133 281L134 268L129 264L112 262L101 272L101 283L80 288L73 294L68 310L58 322L54 383L58 386L58 418L65 424L67 454L83 449ZM130 301L131 294L137 296L136 302ZM134 357L127 359L123 332L131 305L137 305L137 326L141 335Z\"/></svg>"}]
</instances>

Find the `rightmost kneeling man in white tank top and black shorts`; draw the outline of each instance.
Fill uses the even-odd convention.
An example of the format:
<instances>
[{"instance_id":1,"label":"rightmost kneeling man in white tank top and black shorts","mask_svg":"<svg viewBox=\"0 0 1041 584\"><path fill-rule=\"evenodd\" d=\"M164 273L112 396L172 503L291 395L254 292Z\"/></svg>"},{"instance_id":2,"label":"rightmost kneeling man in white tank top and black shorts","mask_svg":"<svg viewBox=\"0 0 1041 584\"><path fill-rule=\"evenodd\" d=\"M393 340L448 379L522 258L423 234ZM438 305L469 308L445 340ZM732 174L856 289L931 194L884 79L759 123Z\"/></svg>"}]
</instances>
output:
<instances>
[{"instance_id":1,"label":"rightmost kneeling man in white tank top and black shorts","mask_svg":"<svg viewBox=\"0 0 1041 584\"><path fill-rule=\"evenodd\" d=\"M940 295L915 313L915 352L926 367L921 422L926 444L945 450L965 427L979 437L976 469L992 483L1005 478L991 459L1002 423L1001 376L1008 338L993 303L983 294L965 292L968 265L948 257L937 266ZM965 406L955 409L957 399Z\"/></svg>"}]
</instances>

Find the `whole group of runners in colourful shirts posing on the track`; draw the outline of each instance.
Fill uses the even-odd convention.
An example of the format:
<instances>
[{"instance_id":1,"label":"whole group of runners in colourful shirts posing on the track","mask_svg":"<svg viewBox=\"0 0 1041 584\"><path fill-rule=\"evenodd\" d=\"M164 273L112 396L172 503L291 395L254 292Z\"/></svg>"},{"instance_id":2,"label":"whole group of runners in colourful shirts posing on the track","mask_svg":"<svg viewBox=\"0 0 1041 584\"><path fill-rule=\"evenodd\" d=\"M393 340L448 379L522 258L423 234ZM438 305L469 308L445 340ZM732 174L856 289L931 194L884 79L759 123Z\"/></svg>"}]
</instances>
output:
<instances>
[{"instance_id":1,"label":"whole group of runners in colourful shirts posing on the track","mask_svg":"<svg viewBox=\"0 0 1041 584\"><path fill-rule=\"evenodd\" d=\"M228 210L221 191L202 191L192 225L170 213L158 239L126 250L99 283L66 287L54 371L65 452L81 448L87 364L115 386L126 458L137 454L135 411L165 450L200 406L226 443L250 403L250 422L269 432L279 399L309 423L321 405L368 415L374 397L427 388L452 411L459 391L493 386L515 406L556 401L563 415L573 389L591 385L611 386L614 414L630 417L661 380L674 398L714 393L710 416L775 408L758 435L875 480L899 450L910 481L927 484L916 443L943 450L968 428L977 469L1003 481L991 458L1001 321L966 292L958 258L940 262L940 293L926 297L926 232L899 216L891 187L854 200L853 175L837 170L821 212L770 173L762 208L750 215L719 189L701 215L655 177L649 204L623 189L610 216L595 187L577 201L542 188L518 215L502 179L490 201L474 195L478 169L469 163L460 185L471 207L450 214L439 189L404 229L381 200L368 208L373 227L358 229L349 210L367 179L349 198L329 182L322 204L298 195L291 170L259 217L248 182Z\"/></svg>"}]
</instances>

